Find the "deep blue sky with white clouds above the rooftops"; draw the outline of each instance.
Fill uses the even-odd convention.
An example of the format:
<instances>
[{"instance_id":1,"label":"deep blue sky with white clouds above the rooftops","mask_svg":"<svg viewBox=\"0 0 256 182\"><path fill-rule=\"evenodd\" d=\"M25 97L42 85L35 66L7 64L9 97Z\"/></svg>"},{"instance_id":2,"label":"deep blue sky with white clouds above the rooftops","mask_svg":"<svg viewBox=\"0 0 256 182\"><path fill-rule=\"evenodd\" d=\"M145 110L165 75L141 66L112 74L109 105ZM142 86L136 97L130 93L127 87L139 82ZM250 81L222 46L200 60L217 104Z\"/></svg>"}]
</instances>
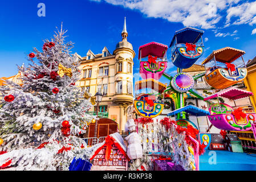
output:
<instances>
[{"instance_id":1,"label":"deep blue sky with white clouds above the rooftops","mask_svg":"<svg viewBox=\"0 0 256 182\"><path fill-rule=\"evenodd\" d=\"M39 17L38 3L46 5L46 16ZM73 52L85 56L88 49L100 53L106 46L112 53L121 41L124 16L128 42L136 52L134 72L139 70L139 46L159 42L169 46L175 31L184 27L204 30L205 53L226 46L246 51L245 61L256 56L256 2L239 0L22 0L4 1L0 6L0 77L17 73L17 64L29 63L32 47L41 48L43 39L54 35L55 27L68 30L67 40L75 43ZM170 50L168 50L170 57ZM176 67L169 63L167 72ZM168 81L165 78L160 80Z\"/></svg>"}]
</instances>

